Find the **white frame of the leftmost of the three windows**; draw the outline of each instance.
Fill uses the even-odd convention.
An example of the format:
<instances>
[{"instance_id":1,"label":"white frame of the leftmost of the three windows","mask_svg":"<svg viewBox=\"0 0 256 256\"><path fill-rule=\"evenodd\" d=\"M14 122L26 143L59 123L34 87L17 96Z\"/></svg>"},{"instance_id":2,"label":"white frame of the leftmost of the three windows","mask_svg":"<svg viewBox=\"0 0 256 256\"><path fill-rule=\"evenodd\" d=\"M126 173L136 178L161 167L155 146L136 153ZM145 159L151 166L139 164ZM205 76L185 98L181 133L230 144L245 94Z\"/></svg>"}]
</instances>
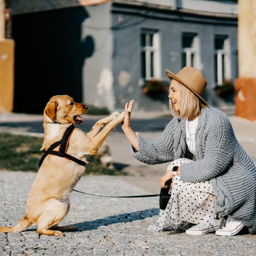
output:
<instances>
[{"instance_id":1,"label":"white frame of the leftmost of the three windows","mask_svg":"<svg viewBox=\"0 0 256 256\"><path fill-rule=\"evenodd\" d=\"M146 80L161 79L161 66L160 66L160 35L156 30L143 29L141 34L146 35L146 42L150 40L150 35L153 35L152 46L141 46L141 52L145 52L145 78ZM154 53L153 59L153 76L151 76L151 52Z\"/></svg>"}]
</instances>

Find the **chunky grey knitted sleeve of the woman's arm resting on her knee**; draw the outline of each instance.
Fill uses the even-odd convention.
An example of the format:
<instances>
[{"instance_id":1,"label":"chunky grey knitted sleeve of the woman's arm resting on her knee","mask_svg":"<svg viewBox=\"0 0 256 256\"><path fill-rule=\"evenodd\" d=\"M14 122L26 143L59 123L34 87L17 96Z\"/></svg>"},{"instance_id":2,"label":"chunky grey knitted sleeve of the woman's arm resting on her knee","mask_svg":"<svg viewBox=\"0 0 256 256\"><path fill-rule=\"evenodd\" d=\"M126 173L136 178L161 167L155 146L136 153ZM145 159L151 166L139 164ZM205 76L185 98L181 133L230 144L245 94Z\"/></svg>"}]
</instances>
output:
<instances>
[{"instance_id":1,"label":"chunky grey knitted sleeve of the woman's arm resting on her knee","mask_svg":"<svg viewBox=\"0 0 256 256\"><path fill-rule=\"evenodd\" d=\"M221 175L233 160L232 145L235 138L232 125L223 113L209 125L204 157L180 166L180 179L184 182L201 182Z\"/></svg>"}]
</instances>

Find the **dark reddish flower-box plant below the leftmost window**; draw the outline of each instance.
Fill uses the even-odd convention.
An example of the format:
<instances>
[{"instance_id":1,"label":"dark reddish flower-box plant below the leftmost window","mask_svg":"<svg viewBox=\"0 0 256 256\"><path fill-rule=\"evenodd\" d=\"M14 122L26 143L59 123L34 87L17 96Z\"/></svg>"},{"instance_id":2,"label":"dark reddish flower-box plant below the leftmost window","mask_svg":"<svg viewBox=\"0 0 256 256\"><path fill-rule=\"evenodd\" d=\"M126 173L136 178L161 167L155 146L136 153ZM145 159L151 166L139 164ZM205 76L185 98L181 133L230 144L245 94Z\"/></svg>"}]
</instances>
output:
<instances>
[{"instance_id":1,"label":"dark reddish flower-box plant below the leftmost window","mask_svg":"<svg viewBox=\"0 0 256 256\"><path fill-rule=\"evenodd\" d=\"M142 87L143 93L151 97L157 97L162 95L164 92L168 90L168 86L166 82L152 79L150 81L146 81Z\"/></svg>"}]
</instances>

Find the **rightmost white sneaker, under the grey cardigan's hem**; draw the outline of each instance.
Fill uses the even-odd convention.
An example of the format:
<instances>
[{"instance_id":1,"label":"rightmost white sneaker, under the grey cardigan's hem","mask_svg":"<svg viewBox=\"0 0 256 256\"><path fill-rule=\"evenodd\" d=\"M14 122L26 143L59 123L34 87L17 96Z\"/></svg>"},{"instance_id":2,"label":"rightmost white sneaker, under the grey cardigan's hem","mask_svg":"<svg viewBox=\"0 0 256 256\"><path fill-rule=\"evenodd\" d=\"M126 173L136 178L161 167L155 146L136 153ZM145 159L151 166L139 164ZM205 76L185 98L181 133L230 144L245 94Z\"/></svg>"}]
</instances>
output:
<instances>
[{"instance_id":1,"label":"rightmost white sneaker, under the grey cardigan's hem","mask_svg":"<svg viewBox=\"0 0 256 256\"><path fill-rule=\"evenodd\" d=\"M228 216L224 227L216 230L215 234L218 236L234 236L244 227L239 218Z\"/></svg>"}]
</instances>

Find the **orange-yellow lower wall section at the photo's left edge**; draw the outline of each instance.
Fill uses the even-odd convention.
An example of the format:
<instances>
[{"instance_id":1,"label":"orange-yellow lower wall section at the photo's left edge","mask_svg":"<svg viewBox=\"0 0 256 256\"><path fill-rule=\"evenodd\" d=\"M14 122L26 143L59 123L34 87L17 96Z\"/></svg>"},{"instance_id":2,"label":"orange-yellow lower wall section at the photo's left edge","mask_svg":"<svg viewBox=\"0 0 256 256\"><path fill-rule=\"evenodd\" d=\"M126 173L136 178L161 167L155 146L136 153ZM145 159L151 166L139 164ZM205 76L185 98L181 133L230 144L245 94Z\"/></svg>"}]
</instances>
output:
<instances>
[{"instance_id":1,"label":"orange-yellow lower wall section at the photo's left edge","mask_svg":"<svg viewBox=\"0 0 256 256\"><path fill-rule=\"evenodd\" d=\"M14 94L14 41L0 39L0 113L11 112Z\"/></svg>"}]
</instances>

